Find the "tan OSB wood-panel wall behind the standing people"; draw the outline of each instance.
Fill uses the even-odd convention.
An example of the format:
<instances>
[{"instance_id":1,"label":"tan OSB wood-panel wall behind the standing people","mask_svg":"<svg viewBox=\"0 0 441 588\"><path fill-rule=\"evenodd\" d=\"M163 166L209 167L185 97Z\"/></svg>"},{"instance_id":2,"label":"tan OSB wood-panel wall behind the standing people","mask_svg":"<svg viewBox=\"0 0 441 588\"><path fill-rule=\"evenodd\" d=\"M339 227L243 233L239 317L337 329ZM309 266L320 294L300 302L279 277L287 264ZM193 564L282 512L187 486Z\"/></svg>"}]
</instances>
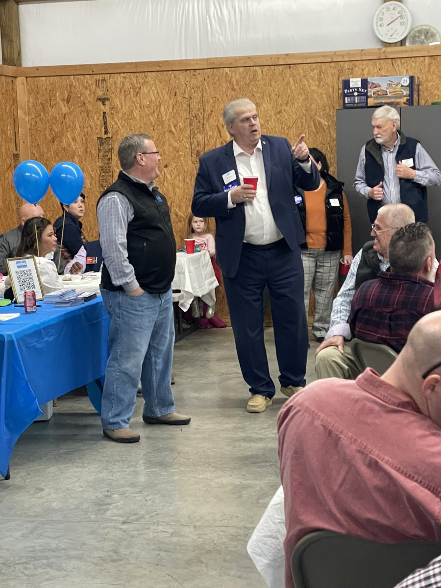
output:
<instances>
[{"instance_id":1,"label":"tan OSB wood-panel wall behind the standing people","mask_svg":"<svg viewBox=\"0 0 441 588\"><path fill-rule=\"evenodd\" d=\"M419 75L420 104L429 104L440 98L437 74L441 71L441 52L437 55L436 49L429 49L432 54L422 56L416 50L410 53L407 48L393 48L199 60L188 62L188 68L185 62L179 67L176 62L168 62L145 64L146 71L139 71L142 64L132 64L132 71L131 64L120 64L119 69L119 64L22 68L24 73L19 75L26 76L27 115L19 118L21 136L28 143L27 156L44 163L48 171L59 161L74 161L82 168L87 197L83 223L86 236L95 239L95 204L118 173L118 142L132 132L152 135L162 158L158 185L168 198L176 241L181 246L198 156L229 139L222 123L226 102L242 96L252 99L258 105L264 133L283 135L291 142L305 133L309 146L317 146L328 155L333 172L335 110L341 106L342 79ZM91 73L94 71L97 73ZM6 96L0 104L0 122L6 125L8 136L8 141L0 145L5 203L0 218L2 231L15 223L11 173L17 105L14 79L0 78L0 83ZM26 153L25 146L22 152ZM42 206L48 218L59 216L59 203L50 193ZM215 230L213 221L210 229ZM218 314L228 316L222 292L218 295Z\"/></svg>"}]
</instances>

